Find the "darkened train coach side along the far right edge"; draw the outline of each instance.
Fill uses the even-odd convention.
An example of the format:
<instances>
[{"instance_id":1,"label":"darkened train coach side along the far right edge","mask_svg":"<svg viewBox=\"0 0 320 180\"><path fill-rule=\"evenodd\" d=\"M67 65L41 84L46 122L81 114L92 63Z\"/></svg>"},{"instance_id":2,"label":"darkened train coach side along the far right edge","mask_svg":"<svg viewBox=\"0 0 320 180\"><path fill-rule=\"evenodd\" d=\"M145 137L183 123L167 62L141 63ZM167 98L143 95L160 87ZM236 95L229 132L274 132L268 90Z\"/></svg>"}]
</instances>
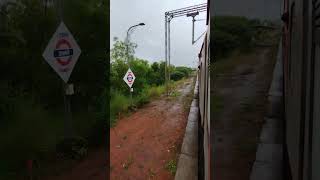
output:
<instances>
[{"instance_id":1,"label":"darkened train coach side along the far right edge","mask_svg":"<svg viewBox=\"0 0 320 180\"><path fill-rule=\"evenodd\" d=\"M286 179L319 180L320 0L284 0L284 4Z\"/></svg>"}]
</instances>

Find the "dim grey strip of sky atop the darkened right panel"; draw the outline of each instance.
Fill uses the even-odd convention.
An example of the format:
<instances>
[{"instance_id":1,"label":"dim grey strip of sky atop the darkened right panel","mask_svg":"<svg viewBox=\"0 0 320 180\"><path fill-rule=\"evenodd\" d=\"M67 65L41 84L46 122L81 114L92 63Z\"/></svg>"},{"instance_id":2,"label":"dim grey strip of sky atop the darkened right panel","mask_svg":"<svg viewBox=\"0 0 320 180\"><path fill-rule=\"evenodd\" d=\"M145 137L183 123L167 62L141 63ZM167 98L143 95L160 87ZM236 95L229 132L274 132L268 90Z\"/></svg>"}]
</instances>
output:
<instances>
[{"instance_id":1,"label":"dim grey strip of sky atop the darkened right panel","mask_svg":"<svg viewBox=\"0 0 320 180\"><path fill-rule=\"evenodd\" d=\"M282 0L213 0L211 16L245 16L267 20L280 19Z\"/></svg>"}]
</instances>

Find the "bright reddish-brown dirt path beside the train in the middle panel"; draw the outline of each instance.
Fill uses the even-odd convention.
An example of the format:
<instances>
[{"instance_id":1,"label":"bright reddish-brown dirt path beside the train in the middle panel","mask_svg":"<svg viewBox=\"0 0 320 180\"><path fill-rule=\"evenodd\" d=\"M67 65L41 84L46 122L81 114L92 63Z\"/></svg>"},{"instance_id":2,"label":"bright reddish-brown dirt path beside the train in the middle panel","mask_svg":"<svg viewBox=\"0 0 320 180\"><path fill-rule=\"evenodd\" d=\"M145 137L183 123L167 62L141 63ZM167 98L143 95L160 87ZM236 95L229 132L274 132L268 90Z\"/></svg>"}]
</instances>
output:
<instances>
[{"instance_id":1,"label":"bright reddish-brown dirt path beside the train in the middle panel","mask_svg":"<svg viewBox=\"0 0 320 180\"><path fill-rule=\"evenodd\" d=\"M189 79L179 97L152 101L110 130L112 180L174 179L165 166L180 151L188 114L184 101L192 87Z\"/></svg>"}]
</instances>

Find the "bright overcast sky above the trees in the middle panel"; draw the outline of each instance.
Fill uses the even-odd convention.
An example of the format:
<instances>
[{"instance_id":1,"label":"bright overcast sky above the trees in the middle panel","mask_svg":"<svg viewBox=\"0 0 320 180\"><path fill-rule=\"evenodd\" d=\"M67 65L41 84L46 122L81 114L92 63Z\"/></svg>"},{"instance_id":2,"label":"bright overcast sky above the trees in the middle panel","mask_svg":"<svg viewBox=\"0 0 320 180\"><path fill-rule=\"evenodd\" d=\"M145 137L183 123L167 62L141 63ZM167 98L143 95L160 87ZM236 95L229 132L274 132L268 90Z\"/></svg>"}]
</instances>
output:
<instances>
[{"instance_id":1,"label":"bright overcast sky above the trees in the middle panel","mask_svg":"<svg viewBox=\"0 0 320 180\"><path fill-rule=\"evenodd\" d=\"M206 0L111 0L110 48L116 36L124 40L127 29L140 22L145 26L135 28L130 36L138 44L135 56L151 62L164 60L164 13L187 6L206 3ZM206 12L196 19L205 19ZM198 21L195 38L206 31L206 21ZM192 45L192 18L177 17L171 21L171 63L196 66L202 38Z\"/></svg>"}]
</instances>

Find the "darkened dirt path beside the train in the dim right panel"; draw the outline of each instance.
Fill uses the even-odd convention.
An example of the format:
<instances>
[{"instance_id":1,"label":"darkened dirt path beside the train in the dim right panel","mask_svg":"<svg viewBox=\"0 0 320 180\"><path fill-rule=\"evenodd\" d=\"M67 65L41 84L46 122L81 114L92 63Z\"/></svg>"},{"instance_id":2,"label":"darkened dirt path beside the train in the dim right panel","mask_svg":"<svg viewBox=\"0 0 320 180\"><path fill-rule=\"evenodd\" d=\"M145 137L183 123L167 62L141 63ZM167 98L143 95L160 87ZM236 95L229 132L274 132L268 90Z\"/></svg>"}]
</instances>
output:
<instances>
[{"instance_id":1,"label":"darkened dirt path beside the train in the dim right panel","mask_svg":"<svg viewBox=\"0 0 320 180\"><path fill-rule=\"evenodd\" d=\"M249 179L272 78L273 51L258 49L234 59L242 63L216 76L213 93L223 108L213 120L215 179Z\"/></svg>"}]
</instances>

